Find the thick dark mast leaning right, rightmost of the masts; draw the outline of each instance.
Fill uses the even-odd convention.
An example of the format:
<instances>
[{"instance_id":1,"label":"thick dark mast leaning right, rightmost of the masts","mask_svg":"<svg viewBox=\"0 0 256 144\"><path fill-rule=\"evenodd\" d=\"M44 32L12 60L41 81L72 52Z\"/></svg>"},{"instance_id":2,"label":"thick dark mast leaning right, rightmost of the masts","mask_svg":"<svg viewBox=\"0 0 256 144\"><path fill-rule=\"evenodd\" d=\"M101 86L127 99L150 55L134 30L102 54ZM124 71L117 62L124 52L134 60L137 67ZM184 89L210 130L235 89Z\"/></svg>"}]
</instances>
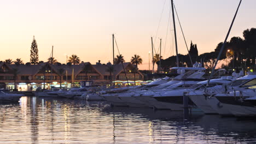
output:
<instances>
[{"instance_id":1,"label":"thick dark mast leaning right, rightmost of the masts","mask_svg":"<svg viewBox=\"0 0 256 144\"><path fill-rule=\"evenodd\" d=\"M229 33L230 33L231 28L232 28L232 26L233 26L233 23L234 23L234 21L235 21L236 14L237 14L237 11L238 11L238 9L239 9L239 7L240 7L241 2L242 2L242 0L240 0L240 2L239 2L239 4L238 4L238 7L237 7L237 9L236 9L236 13L235 13L234 18L233 18L233 20L232 20L232 22L231 22L231 25L230 25L230 27L229 27L229 31L228 31L228 33L226 34L226 38L225 38L225 40L224 40L224 42L223 42L222 48L221 48L220 51L219 51L219 55L218 55L217 60L216 60L216 62L215 62L215 64L214 64L214 67L213 67L213 69L212 69L212 71L211 71L211 75L210 75L210 77L209 77L209 79L208 79L207 84L210 83L210 79L211 79L211 77L213 76L213 73L214 73L214 70L215 70L215 68L216 68L216 65L218 64L219 57L220 57L220 55L222 55L222 51L223 51L223 49L224 49L224 47L225 47L226 40L227 40L228 37L229 37Z\"/></svg>"}]
</instances>

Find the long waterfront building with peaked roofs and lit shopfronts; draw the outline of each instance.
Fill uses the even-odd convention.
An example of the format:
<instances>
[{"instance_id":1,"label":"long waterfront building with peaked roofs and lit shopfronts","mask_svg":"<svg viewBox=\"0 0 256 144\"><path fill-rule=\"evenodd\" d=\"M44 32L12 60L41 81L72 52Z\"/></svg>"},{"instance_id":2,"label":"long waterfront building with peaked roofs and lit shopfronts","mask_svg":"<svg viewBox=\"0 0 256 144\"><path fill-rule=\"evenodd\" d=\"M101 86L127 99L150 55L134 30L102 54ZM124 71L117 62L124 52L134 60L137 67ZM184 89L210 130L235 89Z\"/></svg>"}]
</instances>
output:
<instances>
[{"instance_id":1,"label":"long waterfront building with peaked roofs and lit shopfronts","mask_svg":"<svg viewBox=\"0 0 256 144\"><path fill-rule=\"evenodd\" d=\"M71 88L72 83L74 87L80 87L80 82L85 81L90 81L93 85L109 85L110 74L107 72L109 64L101 64L100 62L96 65L92 65L90 62L78 65L60 63L53 65L49 63L9 65L0 63L0 87L14 89L15 69L18 70L16 73L18 91L36 91L38 87L59 88L60 85L62 88ZM124 63L124 69L122 64L113 65L113 68L113 80L118 81L116 85L127 81L124 69L129 82L139 83L143 80L143 75L131 63Z\"/></svg>"}]
</instances>

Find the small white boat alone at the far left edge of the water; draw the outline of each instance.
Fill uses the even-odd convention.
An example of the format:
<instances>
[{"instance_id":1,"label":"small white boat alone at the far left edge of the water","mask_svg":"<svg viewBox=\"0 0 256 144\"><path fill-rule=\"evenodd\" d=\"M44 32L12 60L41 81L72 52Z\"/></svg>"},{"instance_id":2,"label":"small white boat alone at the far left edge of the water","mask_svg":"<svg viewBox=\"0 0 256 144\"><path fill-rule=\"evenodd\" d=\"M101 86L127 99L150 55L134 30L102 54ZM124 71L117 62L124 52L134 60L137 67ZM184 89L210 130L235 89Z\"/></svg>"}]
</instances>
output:
<instances>
[{"instance_id":1,"label":"small white boat alone at the far left edge of the water","mask_svg":"<svg viewBox=\"0 0 256 144\"><path fill-rule=\"evenodd\" d=\"M10 102L18 102L20 98L24 96L24 94L13 94L13 93L5 93L0 91L0 102L1 103L10 103Z\"/></svg>"}]
</instances>

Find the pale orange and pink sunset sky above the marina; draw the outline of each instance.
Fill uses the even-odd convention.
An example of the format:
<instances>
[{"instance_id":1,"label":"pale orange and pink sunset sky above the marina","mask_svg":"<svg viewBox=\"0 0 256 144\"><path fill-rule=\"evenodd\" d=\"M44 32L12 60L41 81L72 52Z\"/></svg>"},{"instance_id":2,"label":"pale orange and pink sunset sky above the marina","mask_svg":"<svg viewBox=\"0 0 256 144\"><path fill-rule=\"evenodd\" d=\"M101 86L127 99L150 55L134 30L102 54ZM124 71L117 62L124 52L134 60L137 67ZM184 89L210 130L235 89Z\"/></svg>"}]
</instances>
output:
<instances>
[{"instance_id":1,"label":"pale orange and pink sunset sky above the marina","mask_svg":"<svg viewBox=\"0 0 256 144\"><path fill-rule=\"evenodd\" d=\"M238 6L238 0L174 0L188 45L197 44L199 55L214 51L224 41ZM139 69L149 68L149 51L162 56L175 55L170 0L8 0L0 1L0 61L21 58L30 61L33 35L39 61L53 56L66 63L66 55L78 55L84 62L113 62L112 34L126 62L133 55L142 57ZM231 37L242 37L256 27L255 0L243 0ZM171 20L170 20L171 19ZM170 20L170 21L168 21ZM178 53L188 53L176 16ZM228 40L229 40L228 39ZM119 55L115 46L115 56ZM152 55L152 52L150 52ZM151 62L151 61L150 61ZM152 68L152 64L150 64ZM150 68L150 69L151 69Z\"/></svg>"}]
</instances>

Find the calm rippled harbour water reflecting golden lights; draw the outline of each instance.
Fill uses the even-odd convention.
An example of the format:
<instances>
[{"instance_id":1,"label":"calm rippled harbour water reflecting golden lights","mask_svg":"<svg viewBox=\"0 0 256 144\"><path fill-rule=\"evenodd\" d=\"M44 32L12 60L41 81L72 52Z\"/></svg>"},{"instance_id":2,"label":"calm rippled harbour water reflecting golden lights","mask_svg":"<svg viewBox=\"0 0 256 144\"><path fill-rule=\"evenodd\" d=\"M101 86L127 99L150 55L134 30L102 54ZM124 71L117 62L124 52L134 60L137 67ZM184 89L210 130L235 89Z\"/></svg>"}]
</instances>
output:
<instances>
[{"instance_id":1,"label":"calm rippled harbour water reflecting golden lights","mask_svg":"<svg viewBox=\"0 0 256 144\"><path fill-rule=\"evenodd\" d=\"M255 119L22 97L0 105L1 143L256 143Z\"/></svg>"}]
</instances>

